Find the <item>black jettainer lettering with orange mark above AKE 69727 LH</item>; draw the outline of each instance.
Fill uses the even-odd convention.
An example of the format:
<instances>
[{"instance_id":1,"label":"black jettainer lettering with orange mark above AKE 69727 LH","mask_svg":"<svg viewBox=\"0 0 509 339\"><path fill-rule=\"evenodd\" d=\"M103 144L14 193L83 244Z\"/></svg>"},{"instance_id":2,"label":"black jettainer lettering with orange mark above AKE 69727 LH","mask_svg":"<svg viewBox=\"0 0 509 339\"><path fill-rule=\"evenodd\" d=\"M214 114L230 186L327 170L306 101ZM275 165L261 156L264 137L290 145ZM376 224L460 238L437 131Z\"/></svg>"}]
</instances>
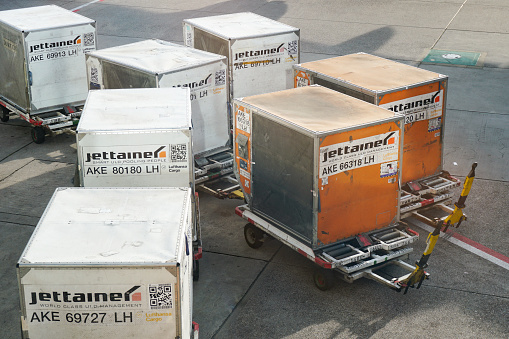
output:
<instances>
[{"instance_id":1,"label":"black jettainer lettering with orange mark above AKE 69727 LH","mask_svg":"<svg viewBox=\"0 0 509 339\"><path fill-rule=\"evenodd\" d=\"M29 305L35 305L39 302L52 303L103 303L103 302L125 302L141 301L141 293L136 292L140 286L135 285L122 292L31 292Z\"/></svg>"}]
</instances>

